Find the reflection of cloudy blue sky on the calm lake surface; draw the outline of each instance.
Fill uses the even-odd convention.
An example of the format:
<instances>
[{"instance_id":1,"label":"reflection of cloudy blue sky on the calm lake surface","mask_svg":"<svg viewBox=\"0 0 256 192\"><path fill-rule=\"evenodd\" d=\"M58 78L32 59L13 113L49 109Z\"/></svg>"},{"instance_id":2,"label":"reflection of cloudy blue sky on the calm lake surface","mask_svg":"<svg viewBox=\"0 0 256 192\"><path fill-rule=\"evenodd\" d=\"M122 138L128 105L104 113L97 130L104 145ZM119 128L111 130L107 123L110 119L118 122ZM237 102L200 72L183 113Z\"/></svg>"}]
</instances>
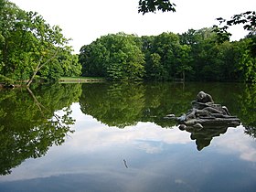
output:
<instances>
[{"instance_id":1,"label":"reflection of cloudy blue sky on the calm lake surface","mask_svg":"<svg viewBox=\"0 0 256 192\"><path fill-rule=\"evenodd\" d=\"M255 190L256 159L241 160L256 152L255 144L242 127L229 129L198 153L189 133L176 127L163 129L154 123L108 127L77 112L79 107L79 103L71 106L78 128L67 142L14 170L12 177L2 179L8 182L0 182L0 191ZM5 188L9 190L1 190Z\"/></svg>"}]
</instances>

